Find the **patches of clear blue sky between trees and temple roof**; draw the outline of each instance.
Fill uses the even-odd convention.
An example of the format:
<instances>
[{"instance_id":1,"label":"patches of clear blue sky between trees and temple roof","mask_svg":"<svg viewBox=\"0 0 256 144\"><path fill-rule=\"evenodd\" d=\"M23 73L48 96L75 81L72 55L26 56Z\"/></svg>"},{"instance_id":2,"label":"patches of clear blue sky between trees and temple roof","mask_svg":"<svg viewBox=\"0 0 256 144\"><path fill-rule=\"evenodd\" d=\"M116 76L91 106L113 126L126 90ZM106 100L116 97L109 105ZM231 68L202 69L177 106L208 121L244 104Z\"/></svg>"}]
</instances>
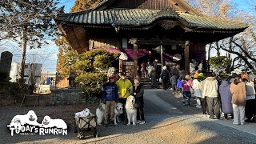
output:
<instances>
[{"instance_id":1,"label":"patches of clear blue sky between trees and temple roof","mask_svg":"<svg viewBox=\"0 0 256 144\"><path fill-rule=\"evenodd\" d=\"M74 1L60 0L58 6L65 6L65 13L69 13ZM236 2L238 9L246 10L248 4L254 4L255 0L231 0L231 2ZM50 45L42 46L41 49L27 50L26 62L42 63L42 72L56 73L58 47L54 41L49 41L49 43ZM13 62L20 62L22 51L16 42L0 42L0 53L3 51L10 51L14 54Z\"/></svg>"}]
</instances>

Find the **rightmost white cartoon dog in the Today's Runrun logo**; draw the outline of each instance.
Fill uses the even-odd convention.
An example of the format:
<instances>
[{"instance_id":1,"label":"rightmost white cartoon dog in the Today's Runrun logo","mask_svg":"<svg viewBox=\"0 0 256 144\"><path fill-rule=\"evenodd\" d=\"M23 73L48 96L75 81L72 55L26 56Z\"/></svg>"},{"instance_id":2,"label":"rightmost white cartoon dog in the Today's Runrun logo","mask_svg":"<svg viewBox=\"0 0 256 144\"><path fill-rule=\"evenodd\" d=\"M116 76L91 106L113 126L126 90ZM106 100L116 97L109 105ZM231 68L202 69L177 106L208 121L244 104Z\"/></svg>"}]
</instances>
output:
<instances>
[{"instance_id":1,"label":"rightmost white cartoon dog in the Today's Runrun logo","mask_svg":"<svg viewBox=\"0 0 256 144\"><path fill-rule=\"evenodd\" d=\"M54 127L66 129L66 122L62 119L51 119L48 115L46 115L42 120L42 127Z\"/></svg>"}]
</instances>

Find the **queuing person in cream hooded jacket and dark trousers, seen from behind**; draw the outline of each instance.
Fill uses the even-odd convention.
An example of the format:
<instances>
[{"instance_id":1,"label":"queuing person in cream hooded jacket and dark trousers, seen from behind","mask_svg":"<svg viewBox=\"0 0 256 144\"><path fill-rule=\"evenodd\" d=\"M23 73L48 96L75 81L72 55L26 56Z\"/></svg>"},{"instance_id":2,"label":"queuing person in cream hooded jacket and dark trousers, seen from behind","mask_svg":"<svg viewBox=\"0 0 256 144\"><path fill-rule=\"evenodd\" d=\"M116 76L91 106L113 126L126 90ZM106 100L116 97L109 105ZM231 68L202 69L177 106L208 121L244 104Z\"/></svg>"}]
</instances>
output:
<instances>
[{"instance_id":1,"label":"queuing person in cream hooded jacket and dark trousers, seen from behind","mask_svg":"<svg viewBox=\"0 0 256 144\"><path fill-rule=\"evenodd\" d=\"M208 77L204 80L202 86L202 96L206 98L210 119L214 119L214 114L219 119L220 114L220 101L218 98L218 81L211 73L207 74Z\"/></svg>"}]
</instances>

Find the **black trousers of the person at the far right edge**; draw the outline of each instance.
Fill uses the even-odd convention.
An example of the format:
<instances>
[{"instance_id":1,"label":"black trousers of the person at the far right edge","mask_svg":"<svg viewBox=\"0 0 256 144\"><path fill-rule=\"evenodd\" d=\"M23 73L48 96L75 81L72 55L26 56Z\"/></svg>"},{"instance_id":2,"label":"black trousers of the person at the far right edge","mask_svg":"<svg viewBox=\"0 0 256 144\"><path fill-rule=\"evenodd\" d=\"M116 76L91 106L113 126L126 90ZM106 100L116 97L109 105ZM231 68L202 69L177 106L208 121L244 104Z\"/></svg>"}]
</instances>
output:
<instances>
[{"instance_id":1,"label":"black trousers of the person at the far right edge","mask_svg":"<svg viewBox=\"0 0 256 144\"><path fill-rule=\"evenodd\" d=\"M250 119L256 115L256 101L255 99L246 100L246 118Z\"/></svg>"}]
</instances>

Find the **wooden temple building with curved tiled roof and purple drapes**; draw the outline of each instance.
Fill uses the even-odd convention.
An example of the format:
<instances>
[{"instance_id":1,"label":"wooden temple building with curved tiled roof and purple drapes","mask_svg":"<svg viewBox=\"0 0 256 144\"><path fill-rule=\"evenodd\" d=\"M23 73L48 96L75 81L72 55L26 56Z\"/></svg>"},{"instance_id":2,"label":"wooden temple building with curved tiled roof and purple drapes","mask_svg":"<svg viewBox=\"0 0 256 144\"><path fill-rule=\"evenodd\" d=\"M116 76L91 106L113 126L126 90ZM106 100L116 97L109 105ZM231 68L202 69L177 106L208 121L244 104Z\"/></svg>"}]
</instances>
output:
<instances>
[{"instance_id":1,"label":"wooden temple building with curved tiled roof and purple drapes","mask_svg":"<svg viewBox=\"0 0 256 144\"><path fill-rule=\"evenodd\" d=\"M206 44L229 38L248 26L198 14L182 0L103 0L98 6L55 18L78 54L106 49L128 55L119 71L136 76L142 62L189 70L190 60L206 61Z\"/></svg>"}]
</instances>

